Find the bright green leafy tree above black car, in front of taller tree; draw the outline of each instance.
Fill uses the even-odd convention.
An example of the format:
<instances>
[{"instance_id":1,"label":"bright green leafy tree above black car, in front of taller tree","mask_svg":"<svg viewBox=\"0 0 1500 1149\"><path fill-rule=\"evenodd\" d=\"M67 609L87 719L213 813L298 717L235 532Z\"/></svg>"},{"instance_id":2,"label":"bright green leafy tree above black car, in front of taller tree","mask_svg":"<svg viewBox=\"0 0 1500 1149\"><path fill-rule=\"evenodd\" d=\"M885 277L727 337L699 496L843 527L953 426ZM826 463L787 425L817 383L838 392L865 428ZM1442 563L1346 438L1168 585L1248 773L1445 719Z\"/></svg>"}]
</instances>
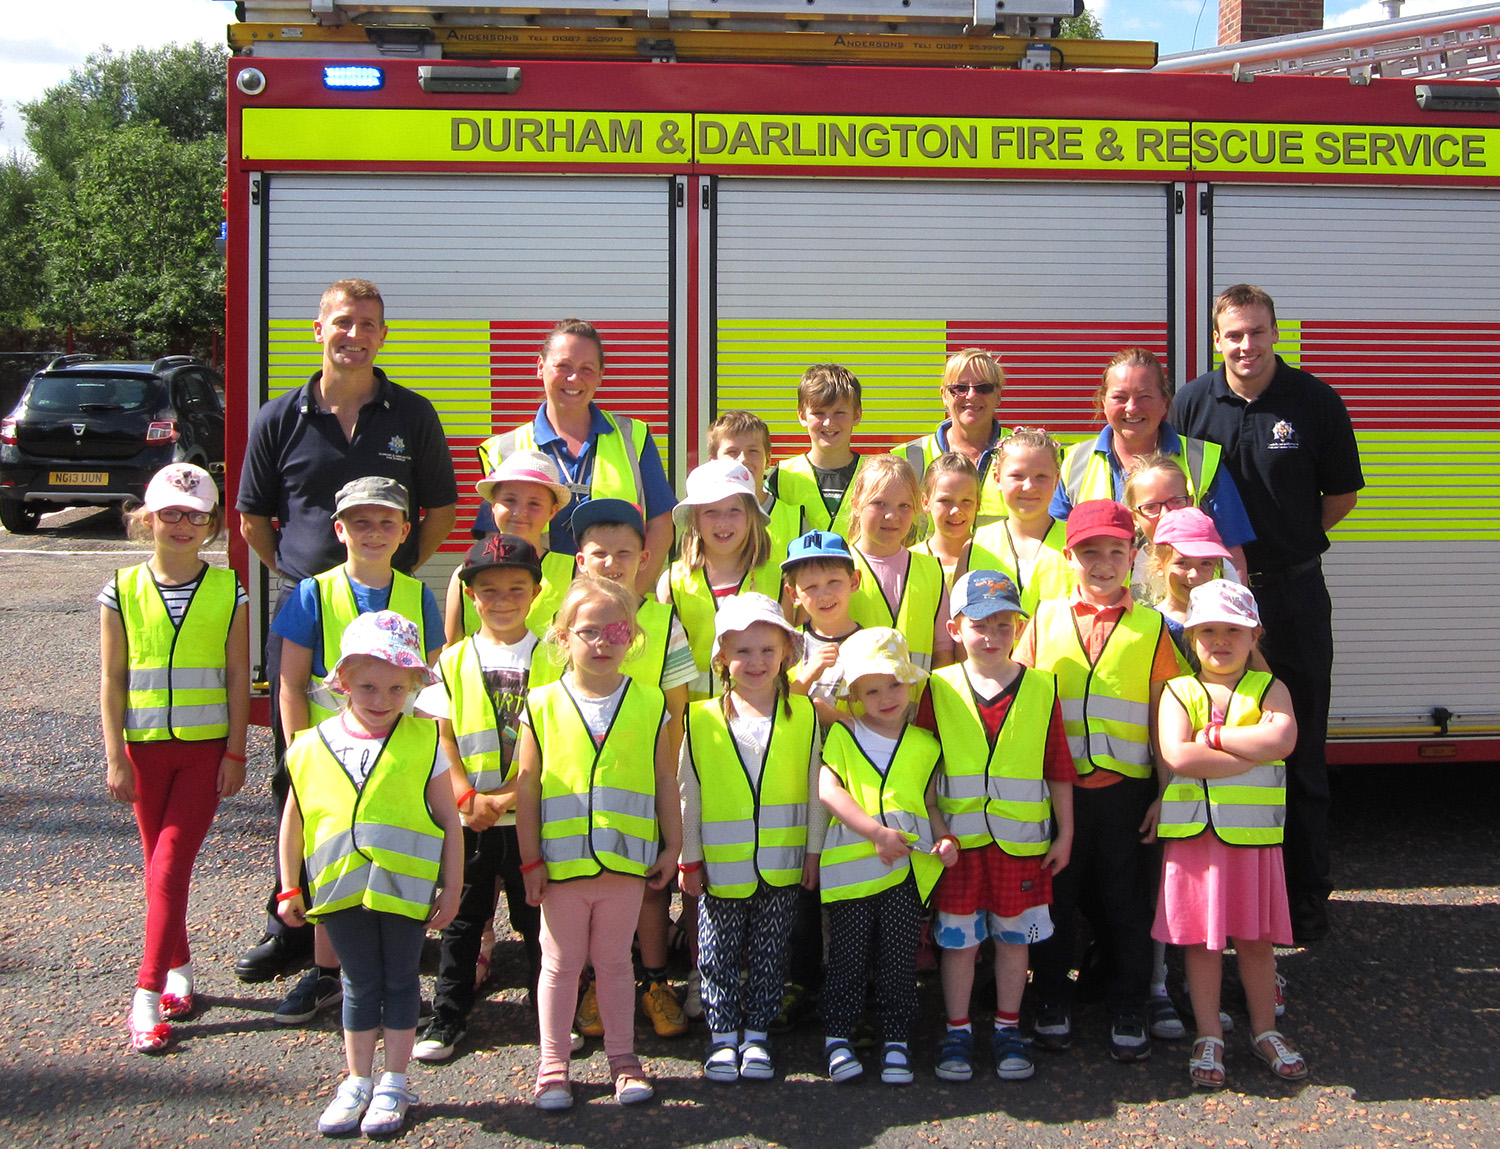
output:
<instances>
[{"instance_id":1,"label":"bright green leafy tree above black car, in front of taller tree","mask_svg":"<svg viewBox=\"0 0 1500 1149\"><path fill-rule=\"evenodd\" d=\"M184 348L224 318L214 250L224 142L128 124L40 201L42 318L129 333L138 354Z\"/></svg>"}]
</instances>

